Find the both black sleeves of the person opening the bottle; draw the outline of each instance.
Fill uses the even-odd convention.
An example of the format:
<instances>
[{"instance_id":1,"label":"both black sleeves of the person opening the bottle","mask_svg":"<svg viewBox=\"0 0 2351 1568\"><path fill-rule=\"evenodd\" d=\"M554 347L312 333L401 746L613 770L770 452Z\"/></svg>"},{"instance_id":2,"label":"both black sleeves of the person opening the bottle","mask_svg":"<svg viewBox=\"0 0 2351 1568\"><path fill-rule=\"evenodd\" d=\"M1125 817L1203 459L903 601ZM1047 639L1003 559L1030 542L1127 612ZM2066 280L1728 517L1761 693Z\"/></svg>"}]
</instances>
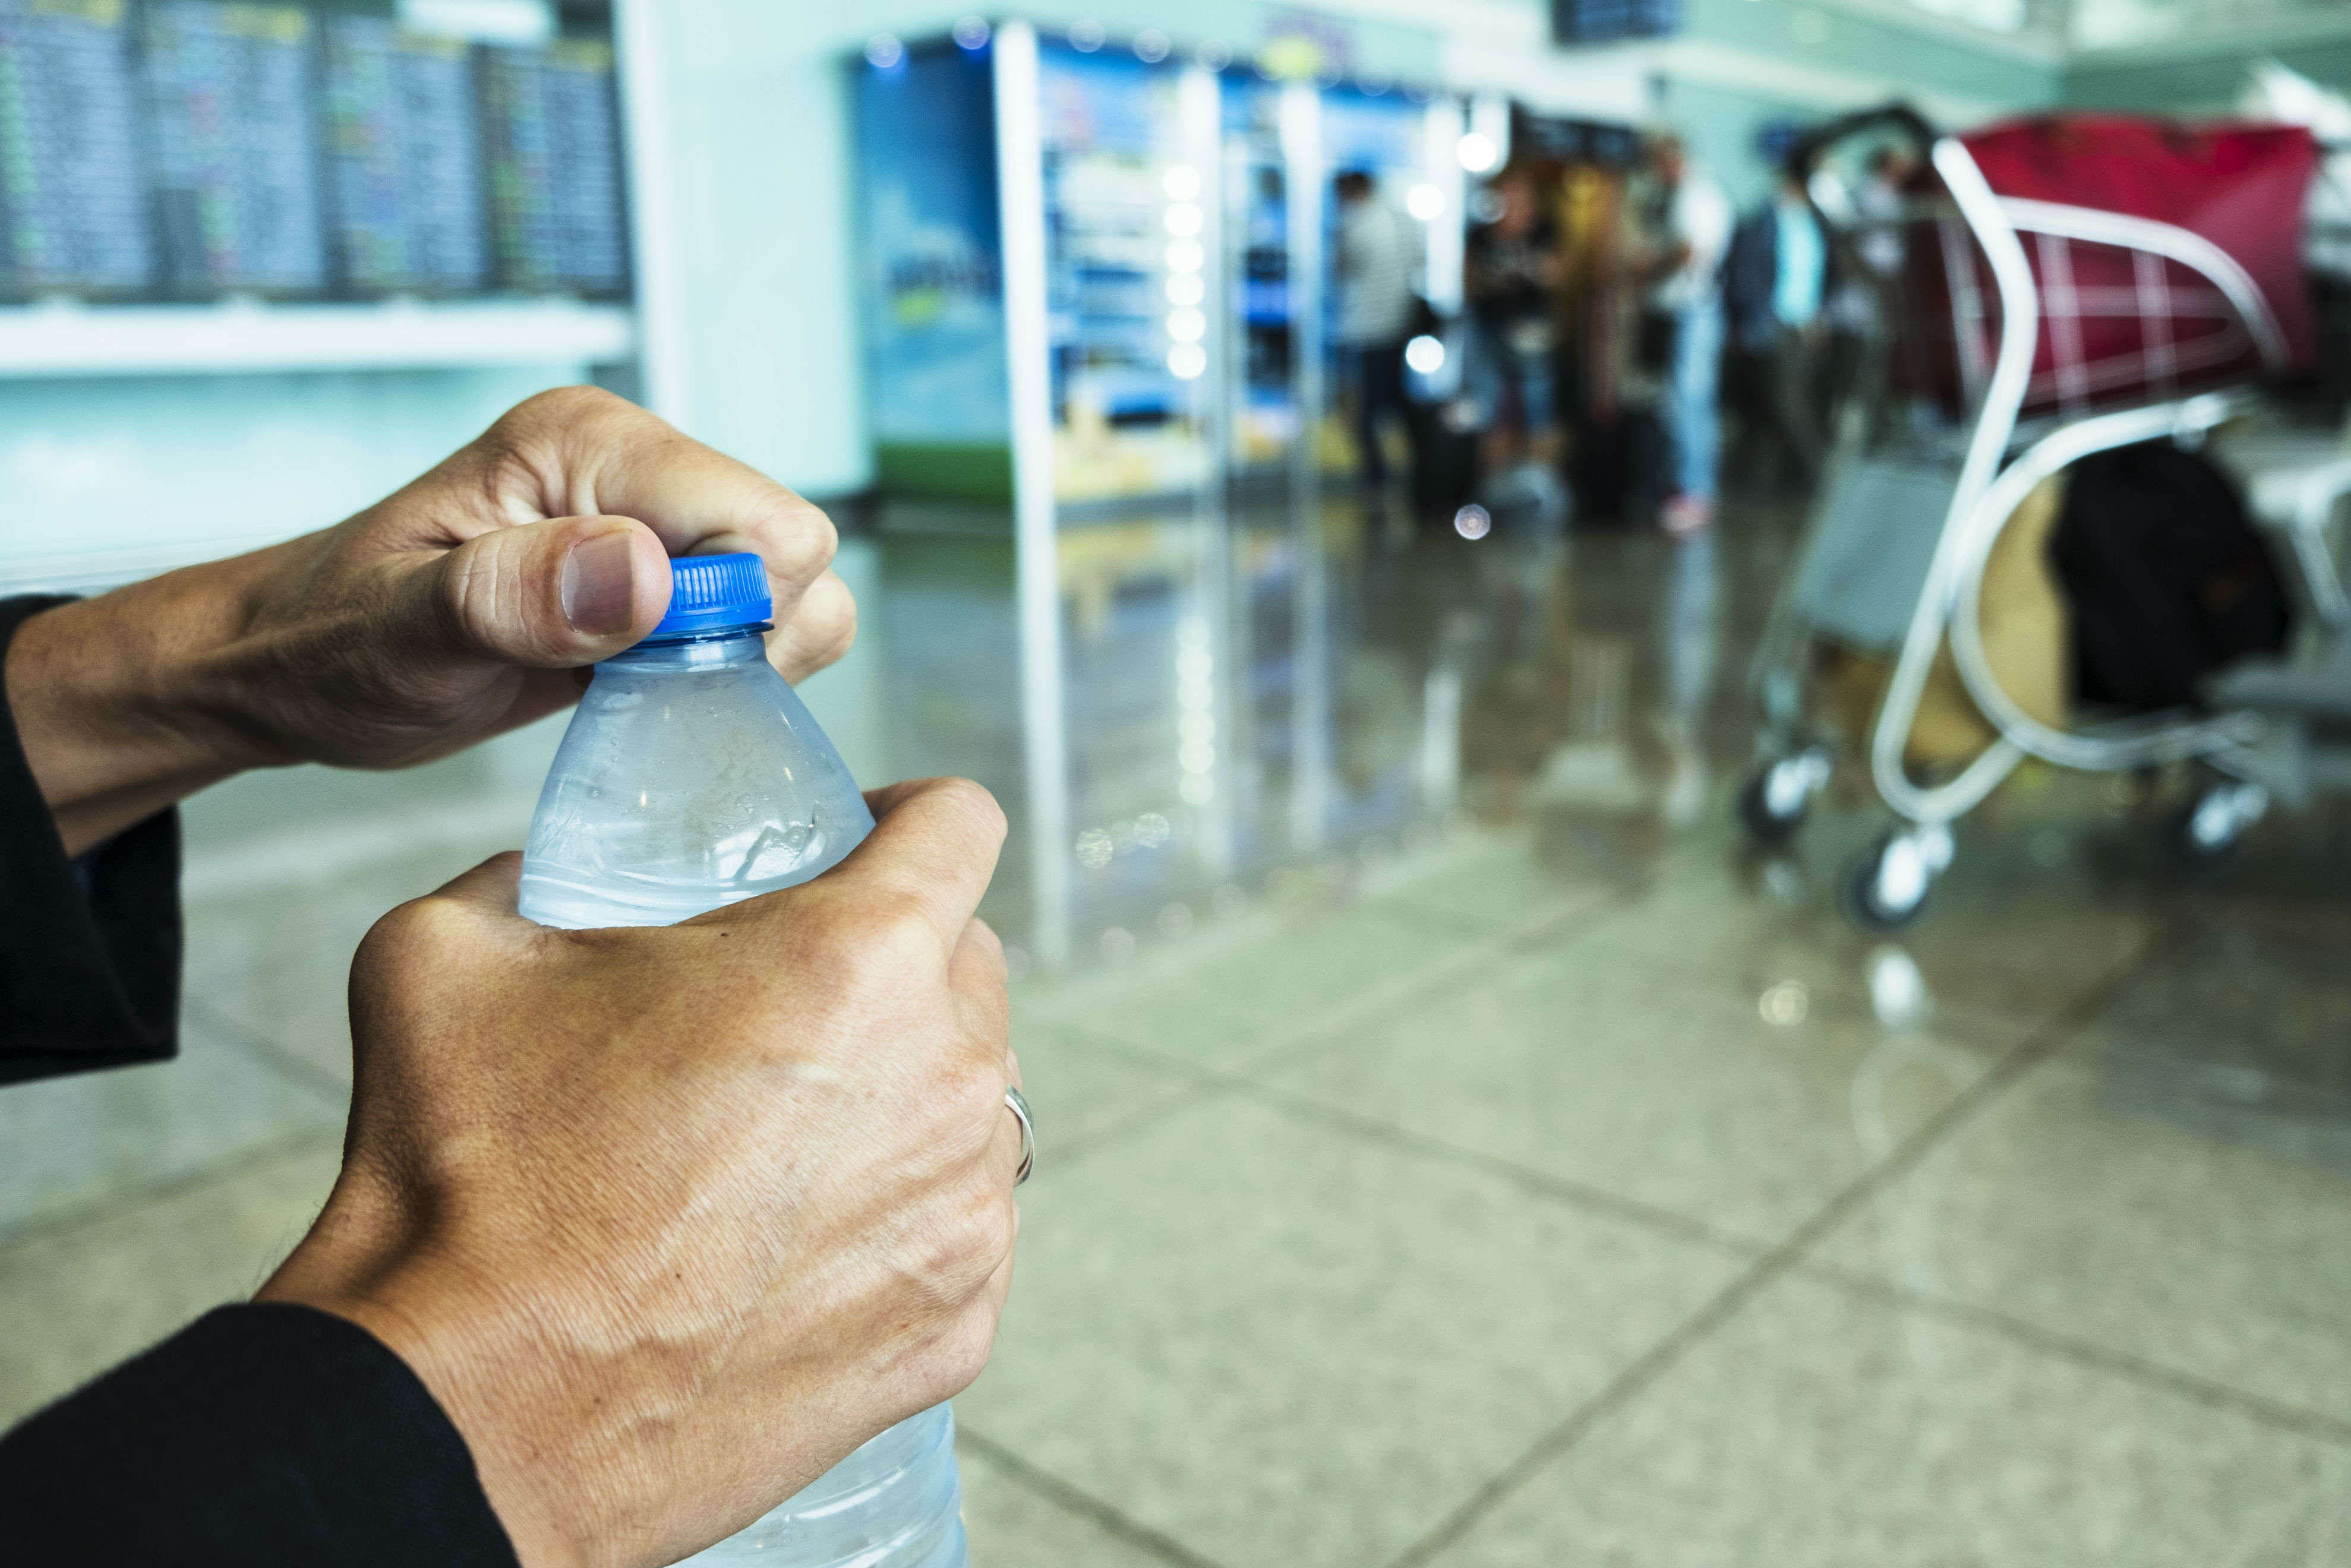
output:
<instances>
[{"instance_id":1,"label":"both black sleeves of the person opening the bottle","mask_svg":"<svg viewBox=\"0 0 2351 1568\"><path fill-rule=\"evenodd\" d=\"M16 625L61 599L0 599ZM80 860L0 684L0 1084L172 1056L179 816ZM0 1561L26 1568L515 1568L473 1455L369 1333L221 1307L0 1434Z\"/></svg>"}]
</instances>

